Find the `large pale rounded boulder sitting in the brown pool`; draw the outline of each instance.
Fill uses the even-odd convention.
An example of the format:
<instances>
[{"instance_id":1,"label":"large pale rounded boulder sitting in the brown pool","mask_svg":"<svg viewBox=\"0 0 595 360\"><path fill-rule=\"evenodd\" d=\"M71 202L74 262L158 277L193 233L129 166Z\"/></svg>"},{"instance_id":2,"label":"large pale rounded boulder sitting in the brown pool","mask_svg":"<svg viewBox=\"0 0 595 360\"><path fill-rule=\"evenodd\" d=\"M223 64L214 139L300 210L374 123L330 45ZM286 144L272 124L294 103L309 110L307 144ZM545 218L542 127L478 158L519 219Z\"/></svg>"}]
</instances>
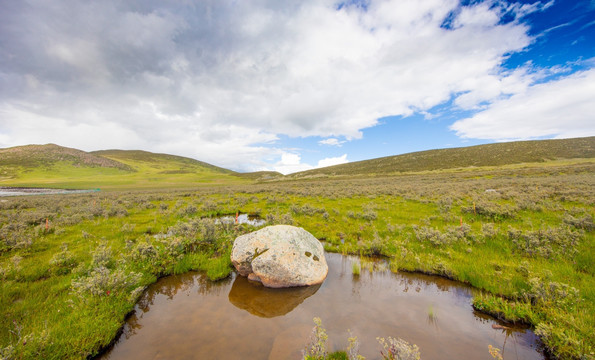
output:
<instances>
[{"instance_id":1,"label":"large pale rounded boulder sitting in the brown pool","mask_svg":"<svg viewBox=\"0 0 595 360\"><path fill-rule=\"evenodd\" d=\"M240 275L273 288L320 284L328 273L320 241L289 225L267 226L239 236L233 243L231 262Z\"/></svg>"}]
</instances>

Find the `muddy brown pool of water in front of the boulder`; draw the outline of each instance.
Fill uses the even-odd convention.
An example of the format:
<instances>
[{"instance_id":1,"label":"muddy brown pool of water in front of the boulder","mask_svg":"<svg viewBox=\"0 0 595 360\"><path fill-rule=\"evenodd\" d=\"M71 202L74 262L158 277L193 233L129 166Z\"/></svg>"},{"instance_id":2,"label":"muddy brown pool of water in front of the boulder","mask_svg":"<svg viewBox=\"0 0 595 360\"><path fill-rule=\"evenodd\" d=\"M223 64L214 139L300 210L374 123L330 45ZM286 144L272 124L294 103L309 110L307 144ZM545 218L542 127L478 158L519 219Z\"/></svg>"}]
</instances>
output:
<instances>
[{"instance_id":1,"label":"muddy brown pool of water in front of the boulder","mask_svg":"<svg viewBox=\"0 0 595 360\"><path fill-rule=\"evenodd\" d=\"M538 338L473 310L474 290L440 277L391 273L382 260L326 254L329 274L316 287L267 289L232 275L210 282L187 273L149 287L103 359L301 359L314 317L322 319L329 350L348 346L379 359L377 337L419 346L422 359L544 359ZM372 270L372 268L374 268ZM372 271L370 271L372 270ZM498 326L496 326L498 327Z\"/></svg>"}]
</instances>

